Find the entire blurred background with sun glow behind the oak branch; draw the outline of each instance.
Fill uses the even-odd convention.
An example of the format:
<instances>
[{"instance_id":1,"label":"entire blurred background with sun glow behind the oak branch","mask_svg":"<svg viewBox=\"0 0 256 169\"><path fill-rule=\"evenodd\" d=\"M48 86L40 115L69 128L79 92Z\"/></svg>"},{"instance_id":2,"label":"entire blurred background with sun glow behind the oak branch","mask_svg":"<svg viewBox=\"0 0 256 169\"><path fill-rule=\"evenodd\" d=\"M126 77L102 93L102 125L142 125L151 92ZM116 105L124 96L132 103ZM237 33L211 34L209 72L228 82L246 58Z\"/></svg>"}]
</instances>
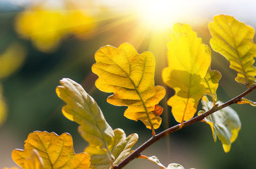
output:
<instances>
[{"instance_id":1,"label":"entire blurred background with sun glow behind the oak branch","mask_svg":"<svg viewBox=\"0 0 256 169\"><path fill-rule=\"evenodd\" d=\"M77 132L78 125L62 115L64 103L55 88L69 77L81 83L103 110L113 129L127 135L139 134L134 149L151 137L141 122L124 118L125 107L107 104L110 94L95 88L97 76L91 72L94 54L101 46L132 44L139 53L152 51L156 56L156 84L163 85L161 71L166 67L166 44L174 23L187 23L209 45L208 24L214 15L233 15L256 27L256 2L189 0L0 0L0 168L17 166L11 159L13 149L23 149L24 141L35 130L69 132L74 149L80 153L87 143ZM235 71L223 56L212 51L211 68L222 73L217 91L225 102L246 87L235 82ZM161 132L176 125L165 106L173 94L167 89L161 101L164 112ZM255 92L248 99L255 101ZM157 156L163 165L180 163L185 168L255 168L255 108L233 105L242 122L238 139L225 154L212 138L205 123L197 123L170 134L143 152ZM136 159L124 168L158 168L150 161Z\"/></svg>"}]
</instances>

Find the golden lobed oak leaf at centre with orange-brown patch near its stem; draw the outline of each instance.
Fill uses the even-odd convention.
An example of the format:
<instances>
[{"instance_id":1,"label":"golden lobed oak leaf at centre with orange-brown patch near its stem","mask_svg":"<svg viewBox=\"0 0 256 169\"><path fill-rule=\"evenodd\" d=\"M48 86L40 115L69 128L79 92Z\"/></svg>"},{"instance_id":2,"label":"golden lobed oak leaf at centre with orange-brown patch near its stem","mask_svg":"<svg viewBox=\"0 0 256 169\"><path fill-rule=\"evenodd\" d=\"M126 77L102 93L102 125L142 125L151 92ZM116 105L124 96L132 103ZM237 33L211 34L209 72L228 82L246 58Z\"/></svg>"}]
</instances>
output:
<instances>
[{"instance_id":1,"label":"golden lobed oak leaf at centre with orange-brown patch near its stem","mask_svg":"<svg viewBox=\"0 0 256 169\"><path fill-rule=\"evenodd\" d=\"M95 53L93 73L98 75L95 85L103 92L112 92L107 102L128 106L124 116L141 120L149 129L157 129L161 118L154 115L156 104L165 96L165 89L155 86L155 58L149 51L138 54L131 44L118 48L103 46Z\"/></svg>"}]
</instances>

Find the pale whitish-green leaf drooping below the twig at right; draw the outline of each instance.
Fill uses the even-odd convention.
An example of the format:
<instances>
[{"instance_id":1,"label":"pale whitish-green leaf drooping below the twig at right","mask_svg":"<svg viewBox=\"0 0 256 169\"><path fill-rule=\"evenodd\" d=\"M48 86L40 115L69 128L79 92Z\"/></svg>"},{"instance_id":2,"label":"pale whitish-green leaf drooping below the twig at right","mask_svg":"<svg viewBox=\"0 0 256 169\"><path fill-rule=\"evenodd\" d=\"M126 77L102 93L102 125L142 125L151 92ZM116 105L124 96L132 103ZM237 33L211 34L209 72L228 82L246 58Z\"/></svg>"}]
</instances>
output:
<instances>
[{"instance_id":1,"label":"pale whitish-green leaf drooping below the twig at right","mask_svg":"<svg viewBox=\"0 0 256 169\"><path fill-rule=\"evenodd\" d=\"M217 101L216 104L223 104ZM214 105L208 101L206 96L202 99L202 106L205 111L209 111ZM200 113L199 113L200 114ZM211 131L216 142L217 137L221 140L224 151L227 153L231 149L231 144L238 137L238 132L241 128L238 114L231 108L223 108L204 118L204 122L211 126Z\"/></svg>"}]
</instances>

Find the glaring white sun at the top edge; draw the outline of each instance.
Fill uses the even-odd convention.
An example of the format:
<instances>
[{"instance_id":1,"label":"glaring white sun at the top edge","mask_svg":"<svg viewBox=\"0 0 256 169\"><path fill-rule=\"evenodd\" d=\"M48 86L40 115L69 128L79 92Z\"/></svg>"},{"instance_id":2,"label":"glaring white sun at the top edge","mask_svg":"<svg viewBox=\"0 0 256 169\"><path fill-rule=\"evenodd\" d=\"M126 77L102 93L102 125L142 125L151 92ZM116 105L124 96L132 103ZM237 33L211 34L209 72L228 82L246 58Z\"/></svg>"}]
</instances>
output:
<instances>
[{"instance_id":1,"label":"glaring white sun at the top edge","mask_svg":"<svg viewBox=\"0 0 256 169\"><path fill-rule=\"evenodd\" d=\"M182 0L141 0L138 1L136 11L141 22L151 30L170 29L185 15L187 17L188 13L194 14L191 2Z\"/></svg>"}]
</instances>

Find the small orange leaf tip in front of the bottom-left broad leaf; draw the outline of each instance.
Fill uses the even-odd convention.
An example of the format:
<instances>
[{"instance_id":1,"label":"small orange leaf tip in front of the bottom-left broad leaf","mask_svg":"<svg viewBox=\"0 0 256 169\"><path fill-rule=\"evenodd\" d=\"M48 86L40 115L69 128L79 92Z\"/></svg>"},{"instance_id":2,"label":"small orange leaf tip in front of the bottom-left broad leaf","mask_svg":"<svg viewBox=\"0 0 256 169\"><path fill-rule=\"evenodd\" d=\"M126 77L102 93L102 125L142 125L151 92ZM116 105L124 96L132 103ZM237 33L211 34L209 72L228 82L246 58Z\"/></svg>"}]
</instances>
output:
<instances>
[{"instance_id":1,"label":"small orange leaf tip in front of the bottom-left broad leaf","mask_svg":"<svg viewBox=\"0 0 256 169\"><path fill-rule=\"evenodd\" d=\"M25 169L44 169L44 162L36 149L31 152L30 158L24 161Z\"/></svg>"}]
</instances>

